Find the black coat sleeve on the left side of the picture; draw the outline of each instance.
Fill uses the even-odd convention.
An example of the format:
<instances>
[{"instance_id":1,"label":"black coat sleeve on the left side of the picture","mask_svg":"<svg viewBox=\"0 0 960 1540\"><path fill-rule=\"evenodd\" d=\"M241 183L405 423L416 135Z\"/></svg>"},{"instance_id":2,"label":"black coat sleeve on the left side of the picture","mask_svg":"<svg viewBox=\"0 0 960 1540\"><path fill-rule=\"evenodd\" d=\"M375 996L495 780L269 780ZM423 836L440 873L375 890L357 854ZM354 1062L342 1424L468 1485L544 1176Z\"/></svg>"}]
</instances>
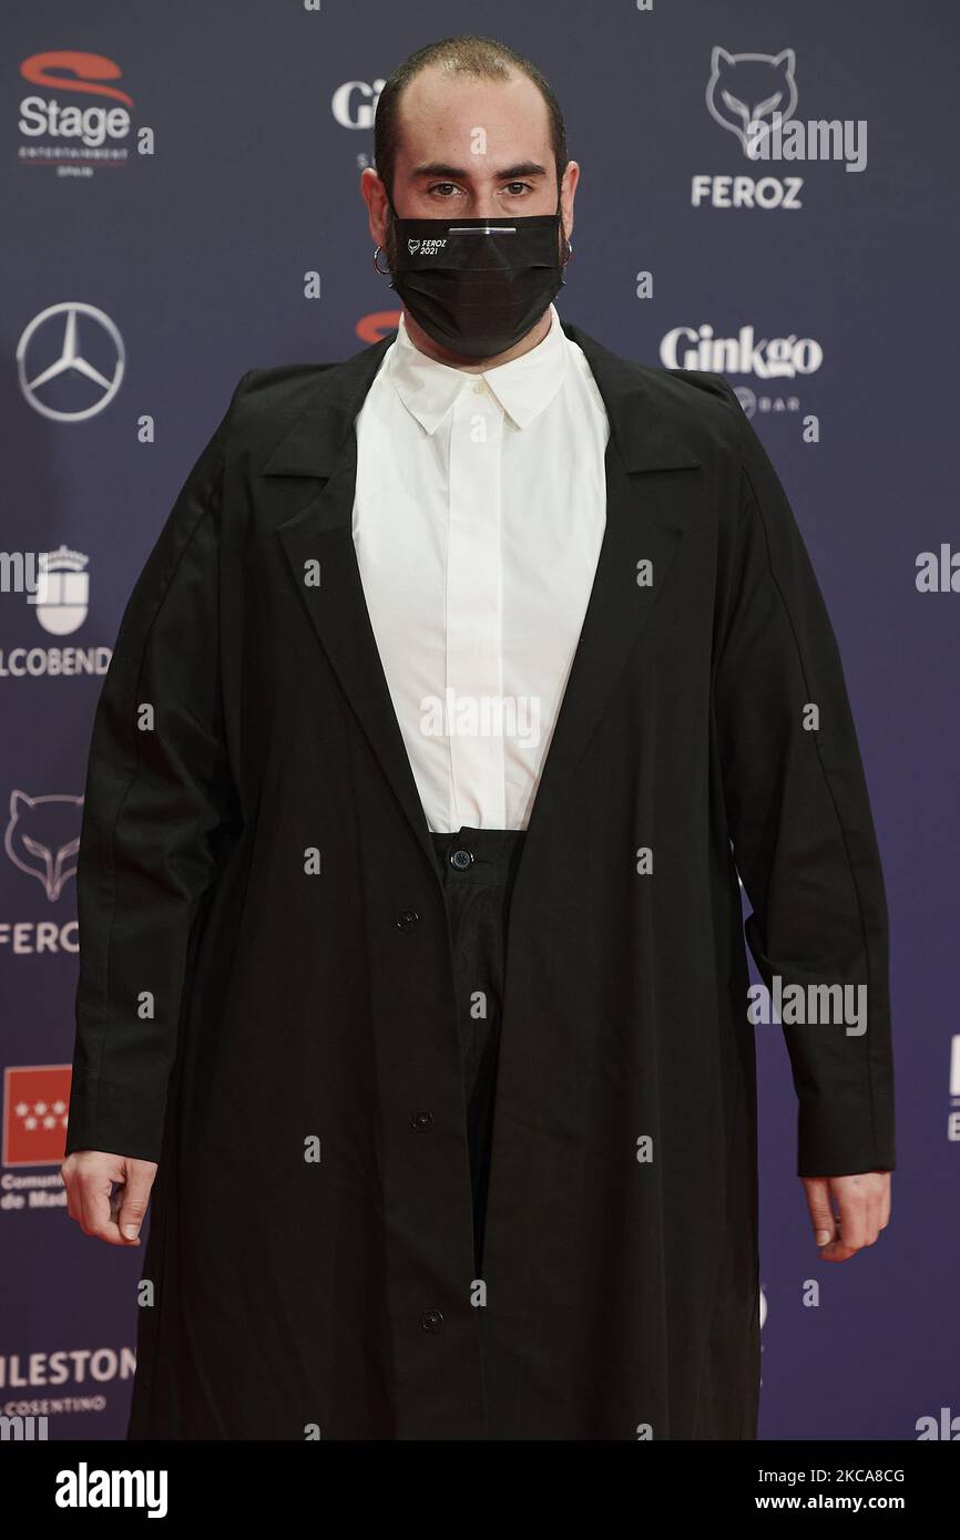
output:
<instances>
[{"instance_id":1,"label":"black coat sleeve on the left side of the picture","mask_svg":"<svg viewBox=\"0 0 960 1540\"><path fill-rule=\"evenodd\" d=\"M217 531L233 408L254 373L234 390L146 559L94 713L68 1155L160 1155L191 927L233 808Z\"/></svg>"}]
</instances>

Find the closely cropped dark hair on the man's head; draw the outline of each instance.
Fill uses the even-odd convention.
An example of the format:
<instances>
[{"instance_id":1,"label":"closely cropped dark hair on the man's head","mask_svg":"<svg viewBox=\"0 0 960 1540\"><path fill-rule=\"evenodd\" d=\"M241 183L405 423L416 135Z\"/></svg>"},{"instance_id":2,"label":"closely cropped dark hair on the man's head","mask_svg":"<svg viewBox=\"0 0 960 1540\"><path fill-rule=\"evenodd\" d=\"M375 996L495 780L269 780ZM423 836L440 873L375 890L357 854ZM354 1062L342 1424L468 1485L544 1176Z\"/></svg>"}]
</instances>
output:
<instances>
[{"instance_id":1,"label":"closely cropped dark hair on the man's head","mask_svg":"<svg viewBox=\"0 0 960 1540\"><path fill-rule=\"evenodd\" d=\"M510 80L513 72L525 74L544 102L550 120L550 142L553 145L553 160L556 163L556 188L559 192L561 177L567 168L567 132L559 102L550 83L541 75L536 65L529 59L498 43L493 37L475 37L464 32L459 37L442 37L439 43L427 43L410 54L399 69L394 69L390 80L381 91L376 117L373 122L373 159L376 174L387 188L393 200L393 172L399 139L399 106L404 91L415 75L430 65L439 66L450 75L472 75L475 80Z\"/></svg>"}]
</instances>

